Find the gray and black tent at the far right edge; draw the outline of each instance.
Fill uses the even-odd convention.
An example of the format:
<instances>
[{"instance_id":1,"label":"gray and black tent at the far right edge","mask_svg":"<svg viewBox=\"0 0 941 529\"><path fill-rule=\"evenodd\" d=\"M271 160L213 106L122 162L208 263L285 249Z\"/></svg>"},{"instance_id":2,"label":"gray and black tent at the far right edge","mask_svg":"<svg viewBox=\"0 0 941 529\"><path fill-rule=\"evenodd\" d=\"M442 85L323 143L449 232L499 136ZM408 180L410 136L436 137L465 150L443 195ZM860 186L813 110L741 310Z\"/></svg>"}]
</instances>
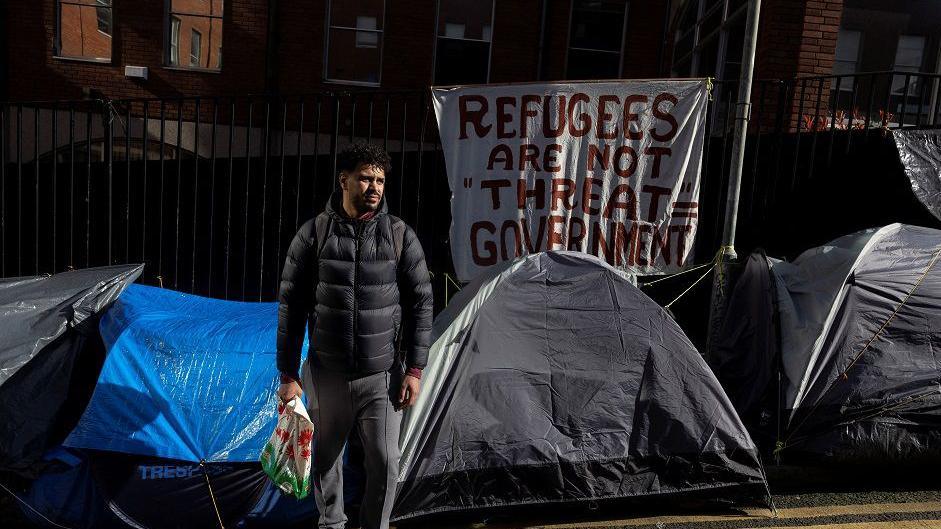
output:
<instances>
[{"instance_id":1,"label":"gray and black tent at the far right edge","mask_svg":"<svg viewBox=\"0 0 941 529\"><path fill-rule=\"evenodd\" d=\"M761 364L760 380L773 378L769 370L780 373L780 386L771 385L780 398L774 439L782 457L941 461L939 257L941 231L893 224L841 237L791 263L766 261L774 283L774 300L766 303L775 305L779 328L762 332L779 332L779 344L752 347L729 332L719 343L731 344L741 363ZM752 290L754 276L765 273L746 269L736 290ZM733 303L730 318L751 313L755 327L769 325L749 305L767 294L733 295L744 304ZM776 350L769 355L769 348ZM738 383L719 375L727 386ZM743 416L755 413L756 401L737 404Z\"/></svg>"}]
</instances>

